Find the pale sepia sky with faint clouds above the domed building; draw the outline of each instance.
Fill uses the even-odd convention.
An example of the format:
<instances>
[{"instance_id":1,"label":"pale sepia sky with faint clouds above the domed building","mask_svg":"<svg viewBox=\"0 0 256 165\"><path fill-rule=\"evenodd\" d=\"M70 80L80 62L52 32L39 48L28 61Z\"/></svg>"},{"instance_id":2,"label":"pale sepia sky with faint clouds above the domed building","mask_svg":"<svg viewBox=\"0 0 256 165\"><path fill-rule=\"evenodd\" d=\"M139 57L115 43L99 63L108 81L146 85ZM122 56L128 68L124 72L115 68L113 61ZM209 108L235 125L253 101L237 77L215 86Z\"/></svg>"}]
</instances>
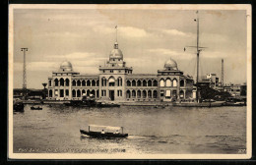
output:
<instances>
[{"instance_id":1,"label":"pale sepia sky with faint clouds above the domed building","mask_svg":"<svg viewBox=\"0 0 256 165\"><path fill-rule=\"evenodd\" d=\"M134 74L157 74L172 58L196 78L196 11L169 9L14 9L14 87L43 88L61 62L81 74L98 74L115 42ZM199 11L200 75L216 73L224 83L246 82L246 11Z\"/></svg>"}]
</instances>

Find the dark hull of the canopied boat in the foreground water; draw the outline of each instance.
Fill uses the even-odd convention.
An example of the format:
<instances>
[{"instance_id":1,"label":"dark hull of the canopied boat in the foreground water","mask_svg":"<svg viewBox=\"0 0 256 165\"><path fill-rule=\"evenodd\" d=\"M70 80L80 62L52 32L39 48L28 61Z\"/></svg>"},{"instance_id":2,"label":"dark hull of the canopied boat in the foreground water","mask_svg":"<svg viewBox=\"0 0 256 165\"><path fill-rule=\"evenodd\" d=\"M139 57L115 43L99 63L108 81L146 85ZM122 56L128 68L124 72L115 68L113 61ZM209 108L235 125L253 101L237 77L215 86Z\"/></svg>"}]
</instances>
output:
<instances>
[{"instance_id":1,"label":"dark hull of the canopied boat in the foreground water","mask_svg":"<svg viewBox=\"0 0 256 165\"><path fill-rule=\"evenodd\" d=\"M87 135L92 138L126 138L128 134L113 134L113 133L105 133L101 134L99 132L88 132L85 130L80 130L81 135Z\"/></svg>"}]
</instances>

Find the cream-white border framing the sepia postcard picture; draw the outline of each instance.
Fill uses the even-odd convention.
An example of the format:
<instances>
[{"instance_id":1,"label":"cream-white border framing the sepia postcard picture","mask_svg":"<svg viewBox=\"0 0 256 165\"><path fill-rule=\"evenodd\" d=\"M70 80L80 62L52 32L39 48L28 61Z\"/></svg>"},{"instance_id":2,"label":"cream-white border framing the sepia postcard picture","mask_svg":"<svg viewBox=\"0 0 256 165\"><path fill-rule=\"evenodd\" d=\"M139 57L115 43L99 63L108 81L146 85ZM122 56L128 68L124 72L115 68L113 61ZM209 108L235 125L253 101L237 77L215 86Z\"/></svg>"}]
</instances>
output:
<instances>
[{"instance_id":1,"label":"cream-white border framing the sepia postcard picture","mask_svg":"<svg viewBox=\"0 0 256 165\"><path fill-rule=\"evenodd\" d=\"M13 153L13 10L14 9L140 9L140 10L246 10L247 12L247 116L246 154L86 154L86 153ZM11 159L249 159L252 155L252 55L251 5L9 5L9 120L8 157Z\"/></svg>"}]
</instances>

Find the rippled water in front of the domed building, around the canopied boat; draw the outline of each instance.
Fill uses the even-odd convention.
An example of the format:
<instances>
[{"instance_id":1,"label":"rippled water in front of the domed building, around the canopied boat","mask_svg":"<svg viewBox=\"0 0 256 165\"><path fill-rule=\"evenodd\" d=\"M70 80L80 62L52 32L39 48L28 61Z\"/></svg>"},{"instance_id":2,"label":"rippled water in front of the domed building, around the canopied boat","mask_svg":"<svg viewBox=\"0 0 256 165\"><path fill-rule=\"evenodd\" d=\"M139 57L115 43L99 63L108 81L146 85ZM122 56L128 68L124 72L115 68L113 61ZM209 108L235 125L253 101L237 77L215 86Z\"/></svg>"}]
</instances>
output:
<instances>
[{"instance_id":1,"label":"rippled water in front of the domed building, around the canopied boat","mask_svg":"<svg viewBox=\"0 0 256 165\"><path fill-rule=\"evenodd\" d=\"M246 107L30 107L14 114L14 152L238 153L246 145ZM81 138L88 124L123 126L129 137Z\"/></svg>"}]
</instances>

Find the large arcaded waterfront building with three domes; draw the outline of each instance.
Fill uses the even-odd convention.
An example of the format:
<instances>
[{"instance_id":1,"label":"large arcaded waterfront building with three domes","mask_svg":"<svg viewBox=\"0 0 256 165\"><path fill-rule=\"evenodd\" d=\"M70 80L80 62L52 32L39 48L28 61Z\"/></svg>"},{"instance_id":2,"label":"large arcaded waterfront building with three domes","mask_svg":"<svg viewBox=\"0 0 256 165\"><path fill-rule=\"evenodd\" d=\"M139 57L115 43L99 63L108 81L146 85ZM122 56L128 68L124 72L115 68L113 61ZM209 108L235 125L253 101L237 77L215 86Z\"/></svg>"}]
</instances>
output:
<instances>
[{"instance_id":1,"label":"large arcaded waterfront building with three domes","mask_svg":"<svg viewBox=\"0 0 256 165\"><path fill-rule=\"evenodd\" d=\"M158 74L133 74L123 61L123 53L114 43L109 60L99 66L99 75L80 75L70 62L63 62L48 78L48 99L81 99L83 94L115 102L171 101L193 97L193 79L178 70L174 60L165 62Z\"/></svg>"}]
</instances>

